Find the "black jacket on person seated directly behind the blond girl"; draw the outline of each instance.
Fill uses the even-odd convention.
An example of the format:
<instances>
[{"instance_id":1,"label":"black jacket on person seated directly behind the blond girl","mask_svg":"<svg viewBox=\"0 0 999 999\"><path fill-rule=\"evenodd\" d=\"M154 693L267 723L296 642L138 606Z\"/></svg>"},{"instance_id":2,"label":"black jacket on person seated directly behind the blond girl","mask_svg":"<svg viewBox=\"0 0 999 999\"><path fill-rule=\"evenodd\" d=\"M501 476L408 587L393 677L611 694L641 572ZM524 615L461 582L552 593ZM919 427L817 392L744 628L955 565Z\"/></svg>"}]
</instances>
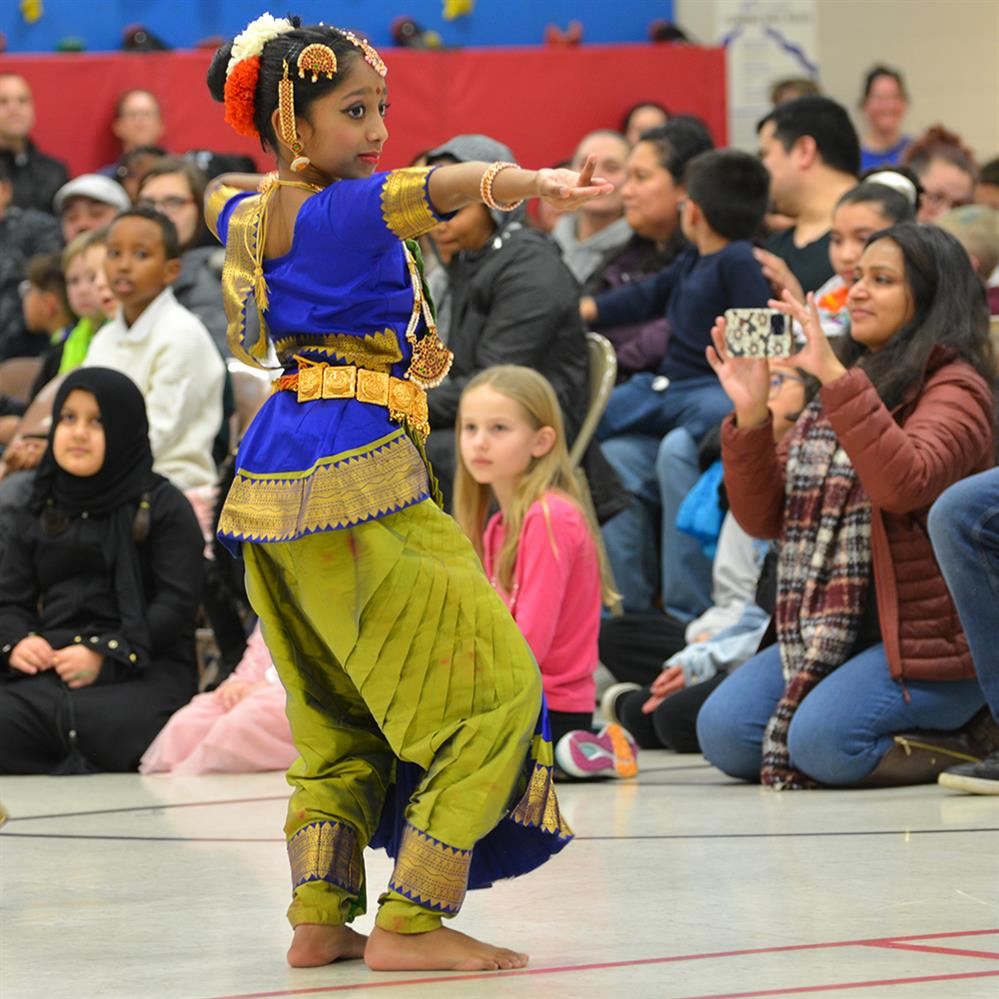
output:
<instances>
[{"instance_id":1,"label":"black jacket on person seated directly behind the blond girl","mask_svg":"<svg viewBox=\"0 0 999 999\"><path fill-rule=\"evenodd\" d=\"M430 393L430 425L453 429L461 393L483 368L522 364L552 383L573 437L586 413L586 338L579 285L555 243L514 222L452 261L447 294L454 364Z\"/></svg>"}]
</instances>

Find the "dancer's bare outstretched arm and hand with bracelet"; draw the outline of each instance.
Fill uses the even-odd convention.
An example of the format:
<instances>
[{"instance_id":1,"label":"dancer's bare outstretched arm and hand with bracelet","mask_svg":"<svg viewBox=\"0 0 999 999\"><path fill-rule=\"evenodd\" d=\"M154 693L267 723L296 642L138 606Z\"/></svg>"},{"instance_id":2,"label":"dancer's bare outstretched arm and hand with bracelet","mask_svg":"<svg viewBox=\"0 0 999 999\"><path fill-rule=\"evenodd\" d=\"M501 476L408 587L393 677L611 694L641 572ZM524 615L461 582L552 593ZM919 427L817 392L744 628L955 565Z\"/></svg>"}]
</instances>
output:
<instances>
[{"instance_id":1,"label":"dancer's bare outstretched arm and hand with bracelet","mask_svg":"<svg viewBox=\"0 0 999 999\"><path fill-rule=\"evenodd\" d=\"M500 170L493 181L493 197L500 204L510 204L524 198L541 198L565 211L578 208L614 190L612 184L593 176L596 157L587 157L583 169L524 170L509 167ZM482 201L482 177L490 163L450 163L438 167L430 175L428 193L434 208L444 215L457 211L473 201Z\"/></svg>"}]
</instances>

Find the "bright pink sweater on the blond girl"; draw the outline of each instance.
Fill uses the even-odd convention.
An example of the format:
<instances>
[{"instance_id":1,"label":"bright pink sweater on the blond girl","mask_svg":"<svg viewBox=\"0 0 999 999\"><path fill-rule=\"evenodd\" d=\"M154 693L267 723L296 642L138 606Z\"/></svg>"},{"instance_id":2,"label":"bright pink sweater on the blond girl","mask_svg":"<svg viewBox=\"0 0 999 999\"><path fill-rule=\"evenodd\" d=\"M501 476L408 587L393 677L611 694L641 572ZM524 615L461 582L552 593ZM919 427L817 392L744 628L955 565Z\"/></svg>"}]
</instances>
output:
<instances>
[{"instance_id":1,"label":"bright pink sweater on the blond girl","mask_svg":"<svg viewBox=\"0 0 999 999\"><path fill-rule=\"evenodd\" d=\"M524 518L513 592L495 578L503 517L486 526L486 573L510 609L541 668L552 711L592 713L600 631L600 568L586 518L572 501L549 492Z\"/></svg>"}]
</instances>

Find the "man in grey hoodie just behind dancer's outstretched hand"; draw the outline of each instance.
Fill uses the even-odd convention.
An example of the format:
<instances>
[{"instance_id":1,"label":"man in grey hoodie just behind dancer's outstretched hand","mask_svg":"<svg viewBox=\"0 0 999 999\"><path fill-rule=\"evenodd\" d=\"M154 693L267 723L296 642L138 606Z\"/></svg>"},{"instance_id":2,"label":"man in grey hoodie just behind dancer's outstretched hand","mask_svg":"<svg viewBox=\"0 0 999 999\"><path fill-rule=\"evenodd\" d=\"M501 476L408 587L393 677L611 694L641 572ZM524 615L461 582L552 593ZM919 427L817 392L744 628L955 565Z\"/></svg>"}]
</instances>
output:
<instances>
[{"instance_id":1,"label":"man in grey hoodie just behind dancer's outstretched hand","mask_svg":"<svg viewBox=\"0 0 999 999\"><path fill-rule=\"evenodd\" d=\"M621 207L628 148L623 135L601 130L585 136L573 154L573 170L581 170L587 157L594 156L594 175L614 185L610 194L588 201L578 211L563 212L552 229L566 266L580 284L586 283L607 253L631 238L631 227L625 222Z\"/></svg>"}]
</instances>

